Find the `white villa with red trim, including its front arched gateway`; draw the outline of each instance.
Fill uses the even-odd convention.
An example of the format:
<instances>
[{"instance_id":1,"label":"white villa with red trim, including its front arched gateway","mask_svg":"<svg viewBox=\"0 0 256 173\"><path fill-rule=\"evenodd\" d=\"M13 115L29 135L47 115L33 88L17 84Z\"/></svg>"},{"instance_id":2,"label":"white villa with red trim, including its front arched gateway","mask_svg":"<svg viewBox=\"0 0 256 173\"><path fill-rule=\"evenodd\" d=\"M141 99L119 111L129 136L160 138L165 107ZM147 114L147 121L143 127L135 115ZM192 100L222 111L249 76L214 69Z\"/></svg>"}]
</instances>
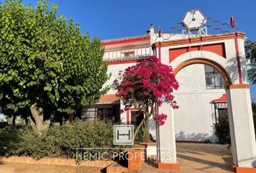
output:
<instances>
[{"instance_id":1,"label":"white villa with red trim, including its front arched gateway","mask_svg":"<svg viewBox=\"0 0 256 173\"><path fill-rule=\"evenodd\" d=\"M155 166L177 169L176 141L217 142L213 133L216 117L228 113L236 172L240 172L240 167L241 172L243 168L251 172L251 168L256 167L256 143L244 50L246 37L244 32L237 30L208 35L206 21L205 15L197 9L186 12L180 34L161 32L160 27L155 32L151 25L147 35L103 40L103 59L108 63L108 74L111 74L105 86L112 87L101 96L98 104L85 107L82 117L140 123L144 115L135 108L119 113L124 105L116 97L113 81L119 71L154 55L161 63L174 68L180 85L174 91L179 109L174 110L163 103L158 112L168 115L165 125L155 125L154 120L150 120L150 133L156 137ZM236 28L234 17L228 27ZM221 30L219 27L215 29ZM166 153L170 157L162 157Z\"/></svg>"}]
</instances>

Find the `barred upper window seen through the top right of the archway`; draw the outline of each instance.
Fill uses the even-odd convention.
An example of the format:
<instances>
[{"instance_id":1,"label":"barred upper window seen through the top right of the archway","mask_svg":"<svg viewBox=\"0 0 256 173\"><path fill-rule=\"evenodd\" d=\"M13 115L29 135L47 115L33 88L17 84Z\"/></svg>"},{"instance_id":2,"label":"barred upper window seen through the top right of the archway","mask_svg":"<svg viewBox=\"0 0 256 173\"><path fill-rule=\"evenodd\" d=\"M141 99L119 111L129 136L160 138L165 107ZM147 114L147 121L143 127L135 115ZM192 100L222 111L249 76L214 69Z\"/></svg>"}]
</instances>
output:
<instances>
[{"instance_id":1,"label":"barred upper window seen through the top right of the archway","mask_svg":"<svg viewBox=\"0 0 256 173\"><path fill-rule=\"evenodd\" d=\"M215 68L205 65L205 83L206 89L224 88L224 81L221 74Z\"/></svg>"}]
</instances>

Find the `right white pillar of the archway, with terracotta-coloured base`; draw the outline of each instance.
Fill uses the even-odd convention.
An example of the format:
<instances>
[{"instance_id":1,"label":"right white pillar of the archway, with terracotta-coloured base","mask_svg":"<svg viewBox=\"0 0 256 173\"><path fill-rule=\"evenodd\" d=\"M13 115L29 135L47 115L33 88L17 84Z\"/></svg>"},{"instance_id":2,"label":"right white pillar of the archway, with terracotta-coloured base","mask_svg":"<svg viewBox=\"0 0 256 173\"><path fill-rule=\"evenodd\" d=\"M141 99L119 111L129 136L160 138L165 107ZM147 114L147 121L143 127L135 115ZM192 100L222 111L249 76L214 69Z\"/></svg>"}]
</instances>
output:
<instances>
[{"instance_id":1,"label":"right white pillar of the archway, with terracotta-coloured base","mask_svg":"<svg viewBox=\"0 0 256 173\"><path fill-rule=\"evenodd\" d=\"M255 128L249 84L233 84L226 89L231 133L231 150L236 172L239 167L256 167Z\"/></svg>"}]
</instances>

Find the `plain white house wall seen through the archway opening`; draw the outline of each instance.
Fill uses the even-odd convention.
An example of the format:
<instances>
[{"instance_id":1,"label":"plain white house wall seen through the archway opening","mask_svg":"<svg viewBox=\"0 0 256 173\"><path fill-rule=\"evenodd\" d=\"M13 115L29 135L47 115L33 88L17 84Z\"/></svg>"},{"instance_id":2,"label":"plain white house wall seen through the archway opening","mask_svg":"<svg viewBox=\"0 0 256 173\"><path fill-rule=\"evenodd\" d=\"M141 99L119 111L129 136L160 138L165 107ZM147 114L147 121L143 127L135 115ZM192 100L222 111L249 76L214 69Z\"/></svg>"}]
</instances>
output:
<instances>
[{"instance_id":1,"label":"plain white house wall seen through the archway opening","mask_svg":"<svg viewBox=\"0 0 256 173\"><path fill-rule=\"evenodd\" d=\"M179 109L174 110L176 140L214 141L212 100L221 97L225 89L206 89L202 64L183 68L176 79L180 85L174 92L179 105Z\"/></svg>"}]
</instances>

